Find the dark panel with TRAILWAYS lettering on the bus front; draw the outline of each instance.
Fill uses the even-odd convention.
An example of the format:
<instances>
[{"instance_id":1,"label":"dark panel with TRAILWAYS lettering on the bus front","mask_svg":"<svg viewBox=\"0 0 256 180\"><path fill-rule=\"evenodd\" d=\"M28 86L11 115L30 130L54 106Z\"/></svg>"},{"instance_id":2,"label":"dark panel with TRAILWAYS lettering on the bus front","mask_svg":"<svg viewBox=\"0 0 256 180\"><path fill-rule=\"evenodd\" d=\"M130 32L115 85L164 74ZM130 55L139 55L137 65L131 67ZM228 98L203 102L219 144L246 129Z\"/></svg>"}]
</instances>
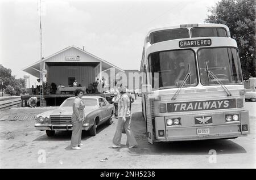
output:
<instances>
[{"instance_id":1,"label":"dark panel with TRAILWAYS lettering on the bus front","mask_svg":"<svg viewBox=\"0 0 256 180\"><path fill-rule=\"evenodd\" d=\"M236 99L167 103L167 112L236 108Z\"/></svg>"}]
</instances>

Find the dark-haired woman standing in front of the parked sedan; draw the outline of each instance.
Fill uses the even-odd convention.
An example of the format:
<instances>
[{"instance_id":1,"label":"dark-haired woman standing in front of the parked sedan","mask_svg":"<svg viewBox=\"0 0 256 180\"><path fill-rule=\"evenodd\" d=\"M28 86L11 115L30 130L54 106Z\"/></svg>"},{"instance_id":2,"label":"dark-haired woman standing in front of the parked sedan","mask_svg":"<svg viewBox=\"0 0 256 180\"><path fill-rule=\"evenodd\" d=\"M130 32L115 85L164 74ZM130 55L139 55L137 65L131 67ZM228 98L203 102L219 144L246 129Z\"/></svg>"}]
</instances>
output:
<instances>
[{"instance_id":1,"label":"dark-haired woman standing in front of the parked sedan","mask_svg":"<svg viewBox=\"0 0 256 180\"><path fill-rule=\"evenodd\" d=\"M75 100L73 102L73 114L72 114L72 136L71 147L72 149L81 149L81 136L82 136L82 124L84 122L84 102L82 101L82 95L84 92L82 89L75 90Z\"/></svg>"}]
</instances>

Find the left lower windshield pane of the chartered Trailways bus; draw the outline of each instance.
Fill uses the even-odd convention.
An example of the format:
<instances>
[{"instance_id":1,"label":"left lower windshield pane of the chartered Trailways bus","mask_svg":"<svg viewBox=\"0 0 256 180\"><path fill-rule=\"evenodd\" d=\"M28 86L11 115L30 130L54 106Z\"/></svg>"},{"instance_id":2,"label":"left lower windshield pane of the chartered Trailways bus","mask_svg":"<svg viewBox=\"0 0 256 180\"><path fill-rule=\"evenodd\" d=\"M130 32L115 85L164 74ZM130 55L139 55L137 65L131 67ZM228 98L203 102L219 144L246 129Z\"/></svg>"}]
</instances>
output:
<instances>
[{"instance_id":1,"label":"left lower windshield pane of the chartered Trailways bus","mask_svg":"<svg viewBox=\"0 0 256 180\"><path fill-rule=\"evenodd\" d=\"M170 50L150 54L148 58L154 89L177 88L190 72L185 87L197 85L196 61L193 50ZM155 77L158 72L158 77ZM158 84L155 84L158 82Z\"/></svg>"}]
</instances>

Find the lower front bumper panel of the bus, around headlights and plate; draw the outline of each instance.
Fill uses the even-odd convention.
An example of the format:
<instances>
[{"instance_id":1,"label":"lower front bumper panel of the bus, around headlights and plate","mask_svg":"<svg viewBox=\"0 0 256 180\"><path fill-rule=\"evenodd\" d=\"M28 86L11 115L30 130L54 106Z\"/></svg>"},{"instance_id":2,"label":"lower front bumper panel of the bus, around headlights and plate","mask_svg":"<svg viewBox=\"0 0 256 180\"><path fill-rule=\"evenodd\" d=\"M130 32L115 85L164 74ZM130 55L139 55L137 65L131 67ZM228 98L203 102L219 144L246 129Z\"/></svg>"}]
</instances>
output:
<instances>
[{"instance_id":1,"label":"lower front bumper panel of the bus, around headlights and plate","mask_svg":"<svg viewBox=\"0 0 256 180\"><path fill-rule=\"evenodd\" d=\"M240 114L240 121L226 122L226 114ZM205 139L230 139L238 136L246 136L250 133L249 112L233 112L220 114L204 114L212 117L212 123L195 125L195 117L199 115L181 115L181 125L167 126L166 119L170 117L155 117L154 142L205 140ZM175 116L177 117L177 116ZM207 134L199 134L198 131L207 129ZM163 132L164 135L159 133Z\"/></svg>"}]
</instances>

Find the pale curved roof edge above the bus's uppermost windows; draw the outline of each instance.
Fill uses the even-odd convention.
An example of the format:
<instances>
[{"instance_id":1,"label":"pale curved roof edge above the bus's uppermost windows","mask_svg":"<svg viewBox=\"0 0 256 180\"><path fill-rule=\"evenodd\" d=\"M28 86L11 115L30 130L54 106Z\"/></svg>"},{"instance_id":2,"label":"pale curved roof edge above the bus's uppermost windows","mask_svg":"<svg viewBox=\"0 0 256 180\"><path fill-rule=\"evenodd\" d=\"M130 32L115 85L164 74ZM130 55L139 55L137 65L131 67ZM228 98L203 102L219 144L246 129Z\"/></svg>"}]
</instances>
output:
<instances>
[{"instance_id":1,"label":"pale curved roof edge above the bus's uppermost windows","mask_svg":"<svg viewBox=\"0 0 256 180\"><path fill-rule=\"evenodd\" d=\"M151 29L147 33L147 36L149 36L150 33L155 32L155 31L162 31L162 30L166 30L166 29L178 29L178 28L188 28L188 29L190 29L190 28L193 28L193 27L223 27L223 28L227 29L228 32L229 32L229 28L225 24L214 24L214 23L180 24L180 25L173 25L173 26L170 26L170 27L162 27L162 28Z\"/></svg>"}]
</instances>

